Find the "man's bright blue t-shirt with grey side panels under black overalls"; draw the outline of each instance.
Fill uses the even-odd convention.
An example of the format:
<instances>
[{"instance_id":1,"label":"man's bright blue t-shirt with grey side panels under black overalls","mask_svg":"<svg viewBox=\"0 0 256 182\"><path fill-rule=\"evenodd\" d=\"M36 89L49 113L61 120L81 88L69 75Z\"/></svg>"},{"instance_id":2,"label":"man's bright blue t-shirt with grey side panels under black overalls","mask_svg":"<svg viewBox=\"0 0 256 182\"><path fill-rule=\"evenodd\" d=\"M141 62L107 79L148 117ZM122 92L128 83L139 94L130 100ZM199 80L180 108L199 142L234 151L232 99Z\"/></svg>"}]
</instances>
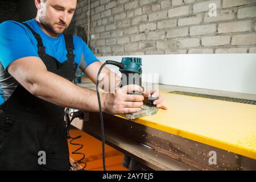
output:
<instances>
[{"instance_id":1,"label":"man's bright blue t-shirt with grey side panels under black overalls","mask_svg":"<svg viewBox=\"0 0 256 182\"><path fill-rule=\"evenodd\" d=\"M43 32L35 19L25 23L41 36L48 55L55 57L60 63L67 61L67 49L63 34L52 38ZM98 61L79 36L73 35L73 44L75 47L73 54L76 55L75 63L79 65L77 70L79 68L84 70L88 65ZM13 61L22 57L39 57L37 45L38 42L32 32L22 23L7 20L0 24L0 105L11 96L18 85L18 82L6 72L6 68Z\"/></svg>"}]
</instances>

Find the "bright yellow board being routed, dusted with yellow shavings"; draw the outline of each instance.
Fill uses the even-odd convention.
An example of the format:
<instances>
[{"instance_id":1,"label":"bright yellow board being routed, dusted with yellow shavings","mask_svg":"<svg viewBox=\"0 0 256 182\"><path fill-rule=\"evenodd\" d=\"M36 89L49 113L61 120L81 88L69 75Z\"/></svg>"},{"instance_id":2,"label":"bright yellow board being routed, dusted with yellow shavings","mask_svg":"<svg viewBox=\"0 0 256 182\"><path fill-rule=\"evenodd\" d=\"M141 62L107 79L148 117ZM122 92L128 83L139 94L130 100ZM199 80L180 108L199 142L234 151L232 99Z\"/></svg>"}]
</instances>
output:
<instances>
[{"instance_id":1,"label":"bright yellow board being routed, dusted with yellow shavings","mask_svg":"<svg viewBox=\"0 0 256 182\"><path fill-rule=\"evenodd\" d=\"M160 94L168 110L133 122L256 159L256 105Z\"/></svg>"}]
</instances>

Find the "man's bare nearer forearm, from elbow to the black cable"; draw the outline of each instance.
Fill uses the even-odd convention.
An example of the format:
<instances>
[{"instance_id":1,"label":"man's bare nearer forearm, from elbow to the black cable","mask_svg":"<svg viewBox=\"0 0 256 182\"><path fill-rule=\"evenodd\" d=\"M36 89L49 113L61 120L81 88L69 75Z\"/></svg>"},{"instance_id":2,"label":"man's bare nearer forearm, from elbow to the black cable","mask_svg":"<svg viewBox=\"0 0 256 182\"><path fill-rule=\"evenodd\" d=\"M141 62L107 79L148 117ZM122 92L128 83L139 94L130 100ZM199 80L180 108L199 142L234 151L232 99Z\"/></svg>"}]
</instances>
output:
<instances>
[{"instance_id":1,"label":"man's bare nearer forearm, from elbow to the black cable","mask_svg":"<svg viewBox=\"0 0 256 182\"><path fill-rule=\"evenodd\" d=\"M32 87L32 94L53 104L84 111L99 110L95 91L81 88L54 73L46 72Z\"/></svg>"}]
</instances>

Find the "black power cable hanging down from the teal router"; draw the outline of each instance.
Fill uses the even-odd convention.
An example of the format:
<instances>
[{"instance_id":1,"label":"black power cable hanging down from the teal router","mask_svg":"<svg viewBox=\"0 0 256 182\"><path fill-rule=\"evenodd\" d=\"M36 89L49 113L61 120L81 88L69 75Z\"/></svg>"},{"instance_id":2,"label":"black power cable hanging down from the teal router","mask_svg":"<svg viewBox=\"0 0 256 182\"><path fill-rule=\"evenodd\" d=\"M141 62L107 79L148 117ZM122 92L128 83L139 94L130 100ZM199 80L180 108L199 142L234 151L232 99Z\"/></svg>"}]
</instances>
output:
<instances>
[{"instance_id":1,"label":"black power cable hanging down from the teal router","mask_svg":"<svg viewBox=\"0 0 256 182\"><path fill-rule=\"evenodd\" d=\"M108 60L104 64L101 65L101 67L100 67L100 69L98 71L98 75L97 75L96 89L97 89L97 97L98 97L98 106L99 106L99 109L100 109L101 141L102 141L102 163L103 163L104 171L106 171L106 163L105 163L105 134L104 134L104 121L103 121L102 108L101 108L101 98L100 98L100 92L99 92L98 84L99 84L99 79L100 79L100 73L101 73L102 69L105 67L105 65L107 65L107 64L115 65L115 66L117 66L117 67L119 67L121 69L123 69L125 67L125 65L122 64L122 63L118 63L117 61Z\"/></svg>"}]
</instances>

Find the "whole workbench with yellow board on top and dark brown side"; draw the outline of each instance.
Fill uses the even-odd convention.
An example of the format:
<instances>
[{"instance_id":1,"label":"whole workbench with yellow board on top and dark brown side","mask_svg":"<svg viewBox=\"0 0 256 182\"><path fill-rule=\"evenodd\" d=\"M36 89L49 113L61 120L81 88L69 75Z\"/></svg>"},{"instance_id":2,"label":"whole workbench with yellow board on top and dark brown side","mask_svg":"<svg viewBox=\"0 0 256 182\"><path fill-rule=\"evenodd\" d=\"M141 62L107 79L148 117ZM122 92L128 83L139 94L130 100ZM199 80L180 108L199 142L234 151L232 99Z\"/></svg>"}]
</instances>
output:
<instances>
[{"instance_id":1,"label":"whole workbench with yellow board on top and dark brown side","mask_svg":"<svg viewBox=\"0 0 256 182\"><path fill-rule=\"evenodd\" d=\"M90 81L78 85L96 89ZM245 102L256 101L255 94L172 85L159 85L159 90L168 110L133 121L104 113L107 144L154 170L256 169L256 105L172 92ZM99 113L73 125L101 139Z\"/></svg>"}]
</instances>

